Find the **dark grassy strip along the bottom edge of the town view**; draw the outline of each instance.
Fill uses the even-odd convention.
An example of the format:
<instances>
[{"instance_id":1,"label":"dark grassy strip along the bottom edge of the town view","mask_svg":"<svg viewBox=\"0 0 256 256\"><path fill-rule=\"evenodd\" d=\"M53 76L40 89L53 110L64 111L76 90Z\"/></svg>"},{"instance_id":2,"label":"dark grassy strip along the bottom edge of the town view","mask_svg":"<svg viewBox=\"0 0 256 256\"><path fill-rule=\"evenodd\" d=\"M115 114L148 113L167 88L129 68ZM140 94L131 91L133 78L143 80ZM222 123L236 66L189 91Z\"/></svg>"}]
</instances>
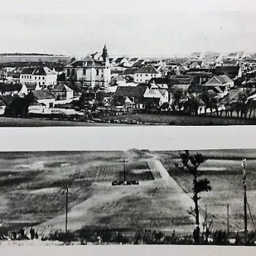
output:
<instances>
[{"instance_id":1,"label":"dark grassy strip along the bottom edge of the town view","mask_svg":"<svg viewBox=\"0 0 256 256\"><path fill-rule=\"evenodd\" d=\"M109 116L103 118L111 123L102 122L82 122L50 120L48 118L10 118L0 117L0 127L118 127L118 126L138 126L138 125L254 125L256 119L230 118L217 116L175 116L166 114L127 114L123 116ZM140 124L129 124L114 121L138 121Z\"/></svg>"}]
</instances>

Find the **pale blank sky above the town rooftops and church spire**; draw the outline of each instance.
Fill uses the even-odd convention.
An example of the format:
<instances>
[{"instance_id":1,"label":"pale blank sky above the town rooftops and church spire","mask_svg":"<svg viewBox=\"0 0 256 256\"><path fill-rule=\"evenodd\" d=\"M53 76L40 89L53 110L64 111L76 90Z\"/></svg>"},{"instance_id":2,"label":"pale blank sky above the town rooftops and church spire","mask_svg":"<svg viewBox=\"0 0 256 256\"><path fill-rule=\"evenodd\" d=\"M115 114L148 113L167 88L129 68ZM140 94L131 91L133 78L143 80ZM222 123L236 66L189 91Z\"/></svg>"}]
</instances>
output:
<instances>
[{"instance_id":1,"label":"pale blank sky above the town rooftops and church spire","mask_svg":"<svg viewBox=\"0 0 256 256\"><path fill-rule=\"evenodd\" d=\"M0 0L0 53L256 52L255 0Z\"/></svg>"}]
</instances>

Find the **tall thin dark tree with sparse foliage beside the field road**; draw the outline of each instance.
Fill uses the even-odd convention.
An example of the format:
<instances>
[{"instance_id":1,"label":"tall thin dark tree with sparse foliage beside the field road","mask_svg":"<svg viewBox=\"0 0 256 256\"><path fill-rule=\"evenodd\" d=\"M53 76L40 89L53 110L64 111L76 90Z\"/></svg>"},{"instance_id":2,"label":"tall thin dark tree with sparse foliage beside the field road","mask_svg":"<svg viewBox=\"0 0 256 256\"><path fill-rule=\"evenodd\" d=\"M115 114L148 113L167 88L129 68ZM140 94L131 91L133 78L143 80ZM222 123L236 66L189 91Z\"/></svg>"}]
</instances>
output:
<instances>
[{"instance_id":1,"label":"tall thin dark tree with sparse foliage beside the field road","mask_svg":"<svg viewBox=\"0 0 256 256\"><path fill-rule=\"evenodd\" d=\"M200 192L208 192L211 190L210 181L207 178L198 179L201 175L201 172L198 170L198 167L206 162L206 157L203 154L189 154L189 151L186 150L179 154L181 158L180 170L187 170L193 176L193 201L195 203L195 208L190 212L195 216L195 230L193 233L194 241L196 244L200 243L200 222L199 222L199 206L198 201L200 200Z\"/></svg>"}]
</instances>

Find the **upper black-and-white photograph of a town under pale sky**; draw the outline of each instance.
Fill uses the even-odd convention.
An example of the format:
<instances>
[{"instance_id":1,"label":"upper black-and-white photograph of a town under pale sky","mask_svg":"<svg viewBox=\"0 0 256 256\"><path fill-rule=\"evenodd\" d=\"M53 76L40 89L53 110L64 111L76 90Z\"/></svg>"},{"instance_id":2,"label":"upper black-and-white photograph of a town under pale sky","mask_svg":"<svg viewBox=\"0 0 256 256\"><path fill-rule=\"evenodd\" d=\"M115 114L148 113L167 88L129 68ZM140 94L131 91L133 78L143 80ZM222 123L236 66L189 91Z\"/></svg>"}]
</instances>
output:
<instances>
[{"instance_id":1,"label":"upper black-and-white photograph of a town under pale sky","mask_svg":"<svg viewBox=\"0 0 256 256\"><path fill-rule=\"evenodd\" d=\"M0 127L256 124L256 3L1 1Z\"/></svg>"}]
</instances>

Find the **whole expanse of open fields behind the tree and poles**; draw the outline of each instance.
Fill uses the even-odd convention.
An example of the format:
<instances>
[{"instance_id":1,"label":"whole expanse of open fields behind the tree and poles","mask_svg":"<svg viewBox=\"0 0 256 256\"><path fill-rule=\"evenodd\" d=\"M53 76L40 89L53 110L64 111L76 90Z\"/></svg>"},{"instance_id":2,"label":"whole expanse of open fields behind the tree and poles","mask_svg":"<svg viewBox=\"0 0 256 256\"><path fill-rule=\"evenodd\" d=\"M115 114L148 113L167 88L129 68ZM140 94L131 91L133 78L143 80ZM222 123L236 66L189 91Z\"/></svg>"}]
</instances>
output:
<instances>
[{"instance_id":1,"label":"whole expanse of open fields behind the tree and poles","mask_svg":"<svg viewBox=\"0 0 256 256\"><path fill-rule=\"evenodd\" d=\"M241 159L247 159L249 206L255 214L256 150L200 151L208 160L200 167L212 191L201 194L201 221L207 206L215 229L243 229ZM111 186L123 178L140 185ZM177 151L61 151L0 154L0 230L7 233L33 225L39 235L65 228L65 187L69 184L68 228L122 230L149 228L191 234L194 219L187 210L192 177L176 170ZM169 175L170 174L170 175ZM252 222L249 219L249 229Z\"/></svg>"}]
</instances>

